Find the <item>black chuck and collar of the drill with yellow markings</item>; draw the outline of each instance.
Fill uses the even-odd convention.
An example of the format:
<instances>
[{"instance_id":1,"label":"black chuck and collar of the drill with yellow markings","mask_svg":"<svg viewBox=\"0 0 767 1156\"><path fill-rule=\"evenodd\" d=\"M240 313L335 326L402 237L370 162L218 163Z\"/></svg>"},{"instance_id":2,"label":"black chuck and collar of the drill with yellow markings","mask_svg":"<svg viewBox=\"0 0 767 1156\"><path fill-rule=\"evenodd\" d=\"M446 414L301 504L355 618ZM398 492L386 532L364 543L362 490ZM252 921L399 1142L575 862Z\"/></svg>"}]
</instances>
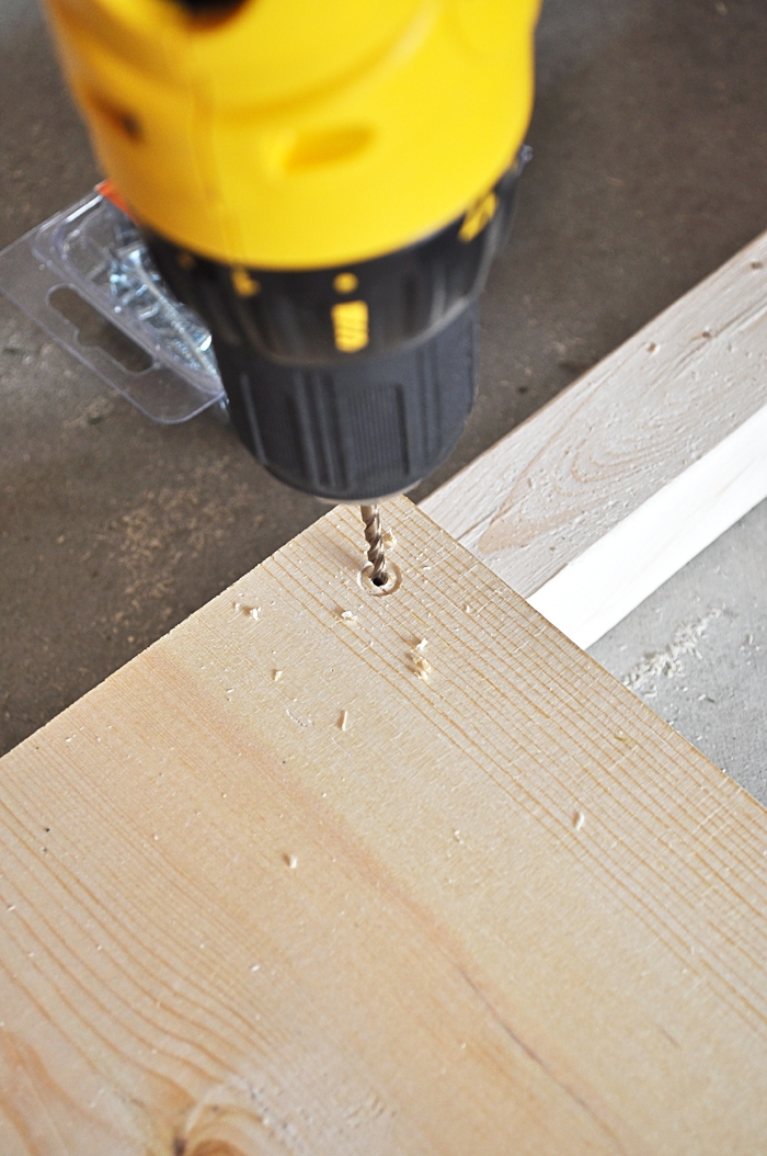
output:
<instances>
[{"instance_id":1,"label":"black chuck and collar of the drill with yellow markings","mask_svg":"<svg viewBox=\"0 0 767 1156\"><path fill-rule=\"evenodd\" d=\"M477 298L527 157L439 232L335 268L232 267L147 236L211 331L237 432L276 477L366 502L444 461L474 403Z\"/></svg>"}]
</instances>

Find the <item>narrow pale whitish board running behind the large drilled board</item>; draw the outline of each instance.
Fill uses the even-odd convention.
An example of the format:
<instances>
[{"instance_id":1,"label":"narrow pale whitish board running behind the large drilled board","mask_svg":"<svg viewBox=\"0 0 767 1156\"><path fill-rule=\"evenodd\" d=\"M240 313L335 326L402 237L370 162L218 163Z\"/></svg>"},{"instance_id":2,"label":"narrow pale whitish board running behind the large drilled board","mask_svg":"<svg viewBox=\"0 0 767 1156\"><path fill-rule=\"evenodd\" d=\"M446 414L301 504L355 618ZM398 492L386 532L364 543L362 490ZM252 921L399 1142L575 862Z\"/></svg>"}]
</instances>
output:
<instances>
[{"instance_id":1,"label":"narrow pale whitish board running behind the large drilled board","mask_svg":"<svg viewBox=\"0 0 767 1156\"><path fill-rule=\"evenodd\" d=\"M423 507L588 646L767 497L766 405L764 234Z\"/></svg>"}]
</instances>

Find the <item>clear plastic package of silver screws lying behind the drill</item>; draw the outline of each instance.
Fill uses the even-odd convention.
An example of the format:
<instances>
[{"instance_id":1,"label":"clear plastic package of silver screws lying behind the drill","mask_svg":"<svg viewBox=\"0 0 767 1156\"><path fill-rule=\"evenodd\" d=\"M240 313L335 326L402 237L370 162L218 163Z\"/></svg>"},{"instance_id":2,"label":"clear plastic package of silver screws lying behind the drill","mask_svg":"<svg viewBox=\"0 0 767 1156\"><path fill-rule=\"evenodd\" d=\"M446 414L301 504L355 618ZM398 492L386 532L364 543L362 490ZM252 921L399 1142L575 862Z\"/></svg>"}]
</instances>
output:
<instances>
[{"instance_id":1,"label":"clear plastic package of silver screws lying behind the drill","mask_svg":"<svg viewBox=\"0 0 767 1156\"><path fill-rule=\"evenodd\" d=\"M107 183L3 250L0 290L154 421L223 403L210 333L161 279Z\"/></svg>"}]
</instances>

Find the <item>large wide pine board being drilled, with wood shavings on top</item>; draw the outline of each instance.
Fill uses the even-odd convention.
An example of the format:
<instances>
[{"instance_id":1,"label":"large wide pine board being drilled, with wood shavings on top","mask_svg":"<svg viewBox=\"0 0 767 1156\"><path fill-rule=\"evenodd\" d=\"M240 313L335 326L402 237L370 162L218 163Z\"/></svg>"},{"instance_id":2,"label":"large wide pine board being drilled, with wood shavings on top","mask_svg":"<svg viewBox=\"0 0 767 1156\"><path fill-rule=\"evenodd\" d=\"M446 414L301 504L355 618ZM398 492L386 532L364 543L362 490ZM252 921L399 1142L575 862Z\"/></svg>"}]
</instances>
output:
<instances>
[{"instance_id":1,"label":"large wide pine board being drilled, with wood shavings on top","mask_svg":"<svg viewBox=\"0 0 767 1156\"><path fill-rule=\"evenodd\" d=\"M0 762L2 1156L765 1150L767 813L387 511Z\"/></svg>"}]
</instances>

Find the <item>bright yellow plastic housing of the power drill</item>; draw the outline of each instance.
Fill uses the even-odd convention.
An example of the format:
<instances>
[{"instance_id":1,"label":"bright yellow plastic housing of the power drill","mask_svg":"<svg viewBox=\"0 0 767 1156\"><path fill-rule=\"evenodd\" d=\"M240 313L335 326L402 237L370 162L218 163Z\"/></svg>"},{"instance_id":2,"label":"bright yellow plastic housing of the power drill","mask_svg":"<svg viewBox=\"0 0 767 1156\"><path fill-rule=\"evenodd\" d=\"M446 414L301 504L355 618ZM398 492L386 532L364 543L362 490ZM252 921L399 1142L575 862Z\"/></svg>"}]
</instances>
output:
<instances>
[{"instance_id":1,"label":"bright yellow plastic housing of the power drill","mask_svg":"<svg viewBox=\"0 0 767 1156\"><path fill-rule=\"evenodd\" d=\"M539 0L49 0L106 173L229 264L387 253L463 213L530 114Z\"/></svg>"}]
</instances>

